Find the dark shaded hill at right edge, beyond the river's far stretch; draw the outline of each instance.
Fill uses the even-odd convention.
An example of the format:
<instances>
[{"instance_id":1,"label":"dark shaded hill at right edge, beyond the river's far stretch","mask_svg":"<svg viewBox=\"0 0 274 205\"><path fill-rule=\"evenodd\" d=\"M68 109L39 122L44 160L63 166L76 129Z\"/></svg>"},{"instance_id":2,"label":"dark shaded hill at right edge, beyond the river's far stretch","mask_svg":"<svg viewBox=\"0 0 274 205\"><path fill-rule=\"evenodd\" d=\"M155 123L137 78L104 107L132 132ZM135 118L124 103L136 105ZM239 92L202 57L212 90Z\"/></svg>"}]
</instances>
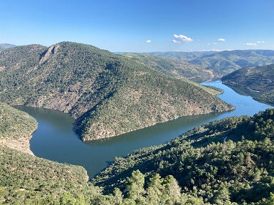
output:
<instances>
[{"instance_id":1,"label":"dark shaded hill at right edge, beyond the river's far stretch","mask_svg":"<svg viewBox=\"0 0 274 205\"><path fill-rule=\"evenodd\" d=\"M241 68L223 76L222 82L238 93L274 105L274 64Z\"/></svg>"}]
</instances>

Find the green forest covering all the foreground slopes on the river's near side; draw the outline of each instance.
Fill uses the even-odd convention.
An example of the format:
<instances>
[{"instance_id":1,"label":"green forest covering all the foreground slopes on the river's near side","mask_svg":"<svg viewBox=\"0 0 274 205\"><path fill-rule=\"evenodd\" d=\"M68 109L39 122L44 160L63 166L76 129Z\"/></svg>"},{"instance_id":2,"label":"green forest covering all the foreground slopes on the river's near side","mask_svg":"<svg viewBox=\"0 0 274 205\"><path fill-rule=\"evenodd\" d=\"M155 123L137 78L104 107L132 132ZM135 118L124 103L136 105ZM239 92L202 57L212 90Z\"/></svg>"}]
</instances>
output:
<instances>
[{"instance_id":1,"label":"green forest covering all the foreground slopes on the river's near side","mask_svg":"<svg viewBox=\"0 0 274 205\"><path fill-rule=\"evenodd\" d=\"M9 125L14 116L16 129ZM20 133L29 139L36 127L32 117L2 103L0 117L11 127L1 127L7 140ZM273 204L273 120L268 109L210 122L115 158L92 182L83 167L1 144L0 204Z\"/></svg>"}]
</instances>

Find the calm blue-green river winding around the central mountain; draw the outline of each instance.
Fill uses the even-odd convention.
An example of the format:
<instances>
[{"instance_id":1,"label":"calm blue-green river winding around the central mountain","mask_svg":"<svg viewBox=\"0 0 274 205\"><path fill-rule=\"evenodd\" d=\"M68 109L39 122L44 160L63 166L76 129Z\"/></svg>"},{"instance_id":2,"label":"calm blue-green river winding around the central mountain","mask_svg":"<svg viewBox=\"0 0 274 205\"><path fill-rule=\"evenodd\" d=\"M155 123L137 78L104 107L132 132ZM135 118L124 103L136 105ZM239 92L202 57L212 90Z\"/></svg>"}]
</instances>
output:
<instances>
[{"instance_id":1,"label":"calm blue-green river winding around the central mountain","mask_svg":"<svg viewBox=\"0 0 274 205\"><path fill-rule=\"evenodd\" d=\"M79 139L78 135L73 132L75 120L67 113L24 105L18 105L16 108L28 112L38 122L38 129L33 133L31 139L31 151L36 156L57 162L81 165L87 169L90 177L94 177L112 162L115 156L122 157L135 149L168 142L193 127L212 120L221 120L233 115L254 115L260 110L271 107L257 102L251 97L239 95L223 85L221 81L202 84L223 89L225 92L218 97L235 105L236 110L180 117L177 120L94 142L82 142Z\"/></svg>"}]
</instances>

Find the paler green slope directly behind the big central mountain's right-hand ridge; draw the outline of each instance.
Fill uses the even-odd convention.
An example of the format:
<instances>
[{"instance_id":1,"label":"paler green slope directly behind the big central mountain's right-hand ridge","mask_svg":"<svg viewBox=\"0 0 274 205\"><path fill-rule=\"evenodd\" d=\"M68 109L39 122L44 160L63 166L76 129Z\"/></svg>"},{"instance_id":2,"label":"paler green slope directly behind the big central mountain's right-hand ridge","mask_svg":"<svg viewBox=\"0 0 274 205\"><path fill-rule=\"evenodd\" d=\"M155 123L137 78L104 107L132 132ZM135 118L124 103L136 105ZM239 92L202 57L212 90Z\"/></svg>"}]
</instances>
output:
<instances>
[{"instance_id":1,"label":"paler green slope directly behind the big central mountain's right-hand ridge","mask_svg":"<svg viewBox=\"0 0 274 205\"><path fill-rule=\"evenodd\" d=\"M175 78L187 78L199 83L214 78L212 70L186 61L176 61L145 53L123 53L122 55Z\"/></svg>"}]
</instances>

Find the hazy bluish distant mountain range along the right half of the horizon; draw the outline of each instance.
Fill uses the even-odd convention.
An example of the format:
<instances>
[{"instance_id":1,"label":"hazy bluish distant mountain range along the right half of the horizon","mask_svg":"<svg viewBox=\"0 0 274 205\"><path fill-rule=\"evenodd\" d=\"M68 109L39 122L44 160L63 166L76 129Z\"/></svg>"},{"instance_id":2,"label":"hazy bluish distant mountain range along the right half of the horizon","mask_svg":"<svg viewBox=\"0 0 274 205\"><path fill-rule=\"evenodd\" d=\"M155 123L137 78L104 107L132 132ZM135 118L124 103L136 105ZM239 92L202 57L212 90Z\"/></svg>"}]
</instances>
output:
<instances>
[{"instance_id":1,"label":"hazy bluish distant mountain range along the right half of the horizon","mask_svg":"<svg viewBox=\"0 0 274 205\"><path fill-rule=\"evenodd\" d=\"M274 63L272 50L234 50L221 52L159 52L149 53L165 58L188 61L213 70L216 78L247 66L269 65Z\"/></svg>"}]
</instances>

